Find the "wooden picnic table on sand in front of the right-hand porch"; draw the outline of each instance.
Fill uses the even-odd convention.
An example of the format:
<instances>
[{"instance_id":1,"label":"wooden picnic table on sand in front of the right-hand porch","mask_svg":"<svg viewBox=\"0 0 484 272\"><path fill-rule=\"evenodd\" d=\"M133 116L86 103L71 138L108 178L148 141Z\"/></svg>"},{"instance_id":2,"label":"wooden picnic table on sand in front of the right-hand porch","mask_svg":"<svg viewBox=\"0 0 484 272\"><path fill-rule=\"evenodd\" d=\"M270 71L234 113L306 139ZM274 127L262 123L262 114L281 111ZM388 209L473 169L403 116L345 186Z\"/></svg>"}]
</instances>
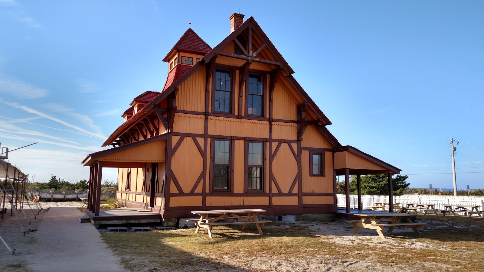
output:
<instances>
[{"instance_id":1,"label":"wooden picnic table on sand in front of the right-hand porch","mask_svg":"<svg viewBox=\"0 0 484 272\"><path fill-rule=\"evenodd\" d=\"M412 213L355 213L354 215L361 218L358 221L349 221L349 223L355 227L353 230L354 234L356 234L361 227L371 228L375 229L382 239L385 239L385 236L382 232L385 227L389 227L387 233L392 233L395 227L411 227L415 233L421 235L417 228L420 228L422 225L426 224L412 222L410 220L410 218L414 216ZM401 223L401 218L405 218L405 221L407 222Z\"/></svg>"}]
</instances>

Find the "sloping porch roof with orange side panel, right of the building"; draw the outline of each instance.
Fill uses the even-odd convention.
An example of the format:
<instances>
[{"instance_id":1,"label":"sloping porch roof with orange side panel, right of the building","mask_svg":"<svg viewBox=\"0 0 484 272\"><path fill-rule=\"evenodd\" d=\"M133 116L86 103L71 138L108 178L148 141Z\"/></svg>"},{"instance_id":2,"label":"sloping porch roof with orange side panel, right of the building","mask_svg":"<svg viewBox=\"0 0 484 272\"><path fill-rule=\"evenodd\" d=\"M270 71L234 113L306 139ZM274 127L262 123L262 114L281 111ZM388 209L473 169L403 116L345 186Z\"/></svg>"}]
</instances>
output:
<instances>
[{"instance_id":1,"label":"sloping porch roof with orange side panel, right of the building","mask_svg":"<svg viewBox=\"0 0 484 272\"><path fill-rule=\"evenodd\" d=\"M336 175L344 175L346 168L350 175L400 174L402 170L352 146L342 146L334 151Z\"/></svg>"}]
</instances>

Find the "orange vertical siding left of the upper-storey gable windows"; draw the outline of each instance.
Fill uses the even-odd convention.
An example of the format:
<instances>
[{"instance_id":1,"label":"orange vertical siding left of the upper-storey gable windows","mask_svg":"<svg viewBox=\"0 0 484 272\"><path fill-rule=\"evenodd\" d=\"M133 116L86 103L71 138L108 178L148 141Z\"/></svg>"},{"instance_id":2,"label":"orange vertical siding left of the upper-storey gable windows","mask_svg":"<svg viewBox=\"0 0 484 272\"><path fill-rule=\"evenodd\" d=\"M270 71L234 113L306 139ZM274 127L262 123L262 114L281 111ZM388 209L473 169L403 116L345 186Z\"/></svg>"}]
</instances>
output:
<instances>
[{"instance_id":1,"label":"orange vertical siding left of the upper-storey gable windows","mask_svg":"<svg viewBox=\"0 0 484 272\"><path fill-rule=\"evenodd\" d=\"M195 58L193 62L195 64ZM178 87L177 107L180 110L205 111L205 69L198 69Z\"/></svg>"}]
</instances>

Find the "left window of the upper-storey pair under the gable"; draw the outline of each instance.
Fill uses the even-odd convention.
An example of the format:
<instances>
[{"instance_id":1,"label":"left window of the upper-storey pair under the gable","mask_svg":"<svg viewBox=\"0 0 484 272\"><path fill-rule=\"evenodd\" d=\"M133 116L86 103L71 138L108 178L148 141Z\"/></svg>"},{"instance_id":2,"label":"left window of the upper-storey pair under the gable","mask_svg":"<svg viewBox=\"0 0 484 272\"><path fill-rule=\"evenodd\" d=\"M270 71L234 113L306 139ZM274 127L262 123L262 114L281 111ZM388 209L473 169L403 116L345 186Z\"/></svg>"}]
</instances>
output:
<instances>
[{"instance_id":1,"label":"left window of the upper-storey pair under the gable","mask_svg":"<svg viewBox=\"0 0 484 272\"><path fill-rule=\"evenodd\" d=\"M215 92L213 111L230 113L232 97L232 81L230 71L215 70Z\"/></svg>"}]
</instances>

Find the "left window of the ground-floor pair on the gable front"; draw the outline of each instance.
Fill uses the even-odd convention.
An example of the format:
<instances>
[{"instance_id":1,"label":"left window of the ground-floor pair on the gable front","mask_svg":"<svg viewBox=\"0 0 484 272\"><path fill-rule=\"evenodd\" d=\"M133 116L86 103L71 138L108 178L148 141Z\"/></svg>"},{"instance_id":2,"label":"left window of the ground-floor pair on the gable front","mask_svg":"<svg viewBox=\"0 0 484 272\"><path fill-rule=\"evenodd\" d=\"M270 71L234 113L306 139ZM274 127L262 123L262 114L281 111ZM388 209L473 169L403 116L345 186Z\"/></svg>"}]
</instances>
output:
<instances>
[{"instance_id":1,"label":"left window of the ground-floor pair on the gable front","mask_svg":"<svg viewBox=\"0 0 484 272\"><path fill-rule=\"evenodd\" d=\"M215 140L213 148L213 189L229 190L230 141Z\"/></svg>"}]
</instances>

